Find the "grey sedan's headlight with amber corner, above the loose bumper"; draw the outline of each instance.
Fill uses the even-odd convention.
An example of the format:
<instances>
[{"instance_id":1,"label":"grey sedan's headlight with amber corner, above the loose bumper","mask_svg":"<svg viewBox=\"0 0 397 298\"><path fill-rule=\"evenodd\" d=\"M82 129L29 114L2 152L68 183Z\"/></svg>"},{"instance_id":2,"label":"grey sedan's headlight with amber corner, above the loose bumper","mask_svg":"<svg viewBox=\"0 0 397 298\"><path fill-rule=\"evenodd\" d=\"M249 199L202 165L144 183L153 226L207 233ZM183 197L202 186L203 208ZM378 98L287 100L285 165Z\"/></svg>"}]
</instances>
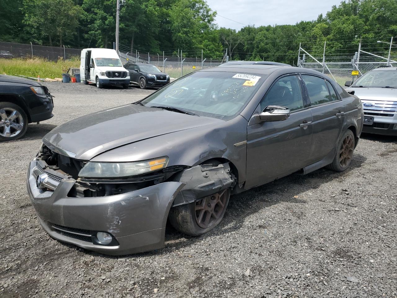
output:
<instances>
[{"instance_id":1,"label":"grey sedan's headlight with amber corner, above the loose bumper","mask_svg":"<svg viewBox=\"0 0 397 298\"><path fill-rule=\"evenodd\" d=\"M145 174L165 168L168 157L133 163L97 163L89 161L80 170L79 176L86 178L115 178Z\"/></svg>"}]
</instances>

